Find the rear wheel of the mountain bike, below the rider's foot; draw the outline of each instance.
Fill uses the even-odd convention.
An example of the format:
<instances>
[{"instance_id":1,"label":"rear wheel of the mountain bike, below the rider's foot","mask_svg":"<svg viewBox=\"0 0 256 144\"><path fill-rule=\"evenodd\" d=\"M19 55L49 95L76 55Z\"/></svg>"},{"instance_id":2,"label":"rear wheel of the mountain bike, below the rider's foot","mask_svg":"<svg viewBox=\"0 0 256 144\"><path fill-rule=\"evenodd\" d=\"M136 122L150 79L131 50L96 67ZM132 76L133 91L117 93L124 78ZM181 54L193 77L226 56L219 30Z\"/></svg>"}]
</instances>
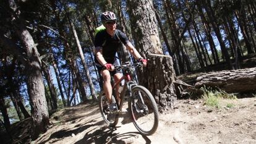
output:
<instances>
[{"instance_id":1,"label":"rear wheel of the mountain bike, below the rider's foot","mask_svg":"<svg viewBox=\"0 0 256 144\"><path fill-rule=\"evenodd\" d=\"M112 98L114 98L114 96L112 96ZM119 119L118 113L109 111L108 98L106 98L104 91L100 92L99 100L100 112L103 120L109 125L109 127L116 126Z\"/></svg>"}]
</instances>

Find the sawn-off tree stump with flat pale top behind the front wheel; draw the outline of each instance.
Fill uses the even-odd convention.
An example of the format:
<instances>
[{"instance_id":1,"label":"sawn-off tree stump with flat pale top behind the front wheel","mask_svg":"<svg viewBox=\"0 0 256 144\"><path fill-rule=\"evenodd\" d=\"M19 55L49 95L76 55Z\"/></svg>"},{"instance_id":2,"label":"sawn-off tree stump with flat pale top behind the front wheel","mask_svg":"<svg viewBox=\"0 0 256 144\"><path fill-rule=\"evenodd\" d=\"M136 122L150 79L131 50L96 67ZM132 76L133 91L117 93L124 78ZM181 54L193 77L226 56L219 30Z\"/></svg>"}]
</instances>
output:
<instances>
[{"instance_id":1,"label":"sawn-off tree stump with flat pale top behind the front wheel","mask_svg":"<svg viewBox=\"0 0 256 144\"><path fill-rule=\"evenodd\" d=\"M142 72L148 77L139 79L140 83L151 91L161 111L172 107L177 97L174 88L176 74L173 69L173 59L162 54L148 54L148 58L150 59L148 66Z\"/></svg>"}]
</instances>

